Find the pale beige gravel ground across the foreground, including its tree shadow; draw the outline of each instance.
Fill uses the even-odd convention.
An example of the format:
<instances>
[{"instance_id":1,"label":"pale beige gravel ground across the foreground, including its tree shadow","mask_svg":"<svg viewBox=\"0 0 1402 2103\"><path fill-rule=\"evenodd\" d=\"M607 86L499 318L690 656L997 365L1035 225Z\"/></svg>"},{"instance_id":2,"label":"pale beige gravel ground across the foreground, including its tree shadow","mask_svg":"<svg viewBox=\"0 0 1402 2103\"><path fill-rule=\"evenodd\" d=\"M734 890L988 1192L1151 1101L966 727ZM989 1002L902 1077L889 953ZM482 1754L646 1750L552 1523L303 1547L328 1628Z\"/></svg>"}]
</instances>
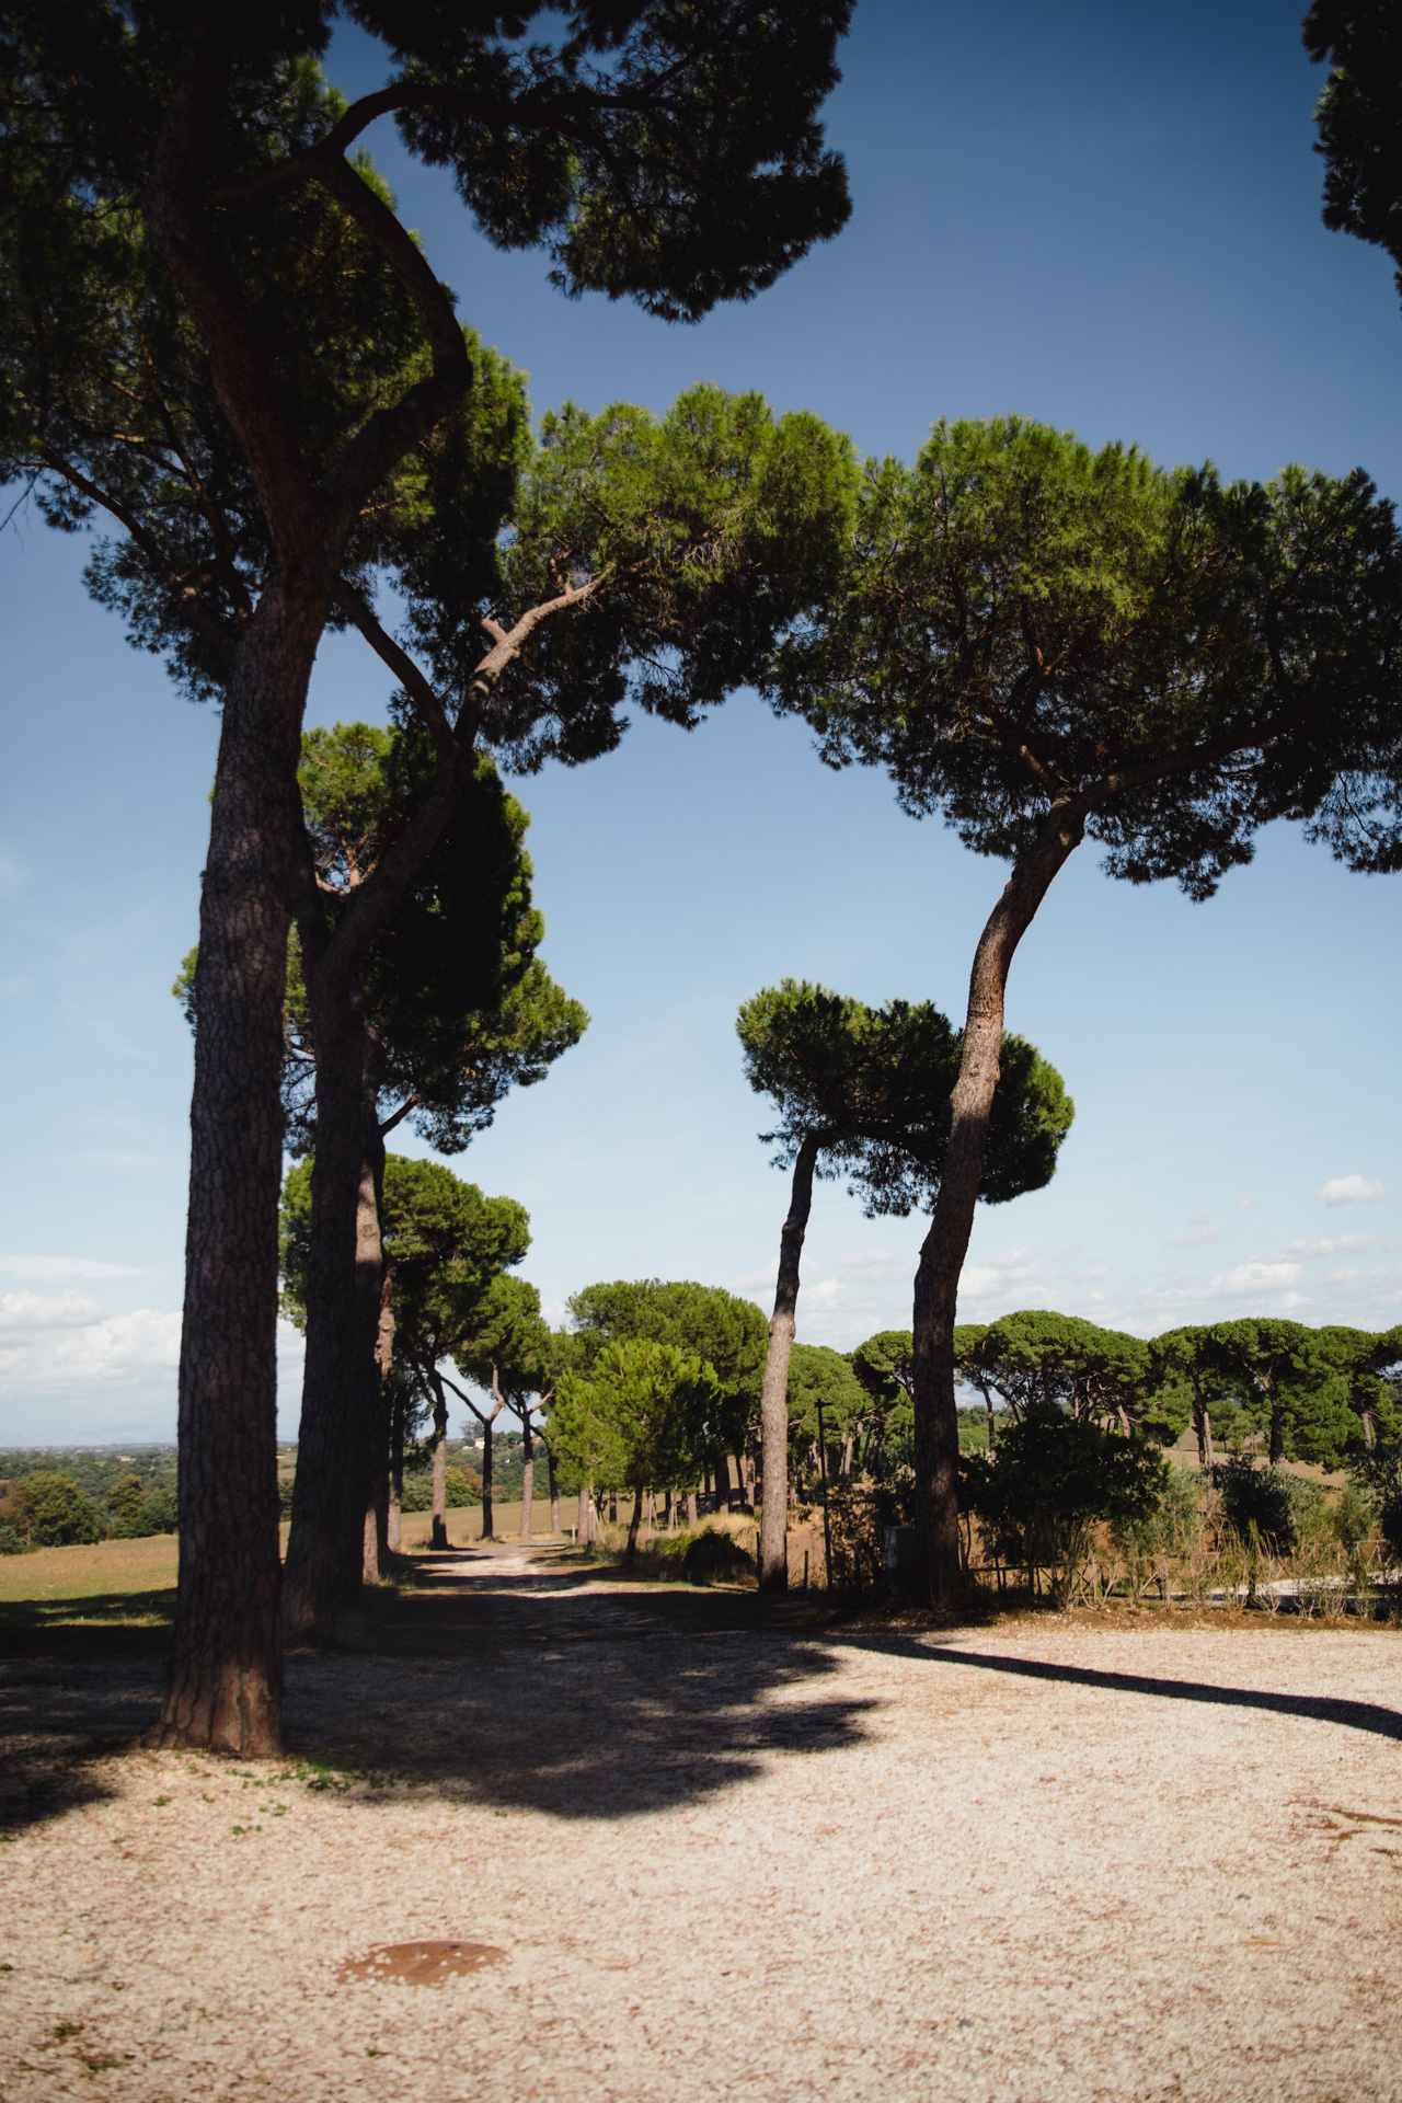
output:
<instances>
[{"instance_id":1,"label":"pale beige gravel ground across the foreground, including its tree shadow","mask_svg":"<svg viewBox=\"0 0 1402 2103\"><path fill-rule=\"evenodd\" d=\"M1402 2099L1396 1632L752 1605L462 1558L282 1767L17 1668L0 2097Z\"/></svg>"}]
</instances>

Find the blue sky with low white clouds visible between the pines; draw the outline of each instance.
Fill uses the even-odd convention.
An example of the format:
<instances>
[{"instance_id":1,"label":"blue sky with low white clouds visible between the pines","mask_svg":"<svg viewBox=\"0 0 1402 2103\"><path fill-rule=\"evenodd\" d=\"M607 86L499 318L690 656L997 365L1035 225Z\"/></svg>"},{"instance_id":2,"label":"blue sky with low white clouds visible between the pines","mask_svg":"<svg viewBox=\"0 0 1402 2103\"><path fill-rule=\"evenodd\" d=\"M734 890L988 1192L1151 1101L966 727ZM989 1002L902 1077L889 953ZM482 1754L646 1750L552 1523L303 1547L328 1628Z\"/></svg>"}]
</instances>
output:
<instances>
[{"instance_id":1,"label":"blue sky with low white clouds visible between the pines","mask_svg":"<svg viewBox=\"0 0 1402 2103\"><path fill-rule=\"evenodd\" d=\"M328 69L351 93L380 78L357 36ZM1015 410L1228 475L1362 463L1402 496L1402 313L1387 259L1320 225L1297 4L860 0L843 72L847 231L698 328L561 301L389 126L370 145L536 408L662 410L710 379L872 454L912 456L935 416ZM174 1428L189 1037L168 986L195 936L217 721L86 601L82 564L34 515L0 543L0 1443ZM364 646L332 641L309 719L383 713ZM555 1312L605 1277L765 1302L786 1190L736 1007L792 974L961 1014L1003 866L902 816L881 774L824 770L752 696L692 736L641 721L517 793L544 955L593 1026L452 1165L530 1207L523 1270ZM1112 883L1083 850L1009 986L1076 1127L1051 1188L980 1213L965 1319L1402 1319L1396 923L1396 879L1288 829L1207 906ZM906 1327L919 1239L822 1186L801 1335Z\"/></svg>"}]
</instances>

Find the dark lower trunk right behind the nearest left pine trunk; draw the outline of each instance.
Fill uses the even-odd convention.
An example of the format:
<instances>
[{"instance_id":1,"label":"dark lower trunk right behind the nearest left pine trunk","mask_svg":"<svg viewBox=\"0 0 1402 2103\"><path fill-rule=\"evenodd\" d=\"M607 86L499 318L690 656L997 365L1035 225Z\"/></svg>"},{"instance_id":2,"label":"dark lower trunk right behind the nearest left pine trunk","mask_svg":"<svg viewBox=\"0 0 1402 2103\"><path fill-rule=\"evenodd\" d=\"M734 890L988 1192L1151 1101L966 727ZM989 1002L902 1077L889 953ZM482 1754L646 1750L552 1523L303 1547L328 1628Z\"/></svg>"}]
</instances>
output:
<instances>
[{"instance_id":1,"label":"dark lower trunk right behind the nearest left pine trunk","mask_svg":"<svg viewBox=\"0 0 1402 2103\"><path fill-rule=\"evenodd\" d=\"M311 932L311 930L309 930ZM307 951L303 940L303 951ZM326 1001L309 974L317 1054L311 1163L307 1365L298 1476L282 1615L288 1636L326 1642L355 1602L364 1573L366 1504L378 1420L383 1140L374 1117L378 1045L359 997Z\"/></svg>"}]
</instances>

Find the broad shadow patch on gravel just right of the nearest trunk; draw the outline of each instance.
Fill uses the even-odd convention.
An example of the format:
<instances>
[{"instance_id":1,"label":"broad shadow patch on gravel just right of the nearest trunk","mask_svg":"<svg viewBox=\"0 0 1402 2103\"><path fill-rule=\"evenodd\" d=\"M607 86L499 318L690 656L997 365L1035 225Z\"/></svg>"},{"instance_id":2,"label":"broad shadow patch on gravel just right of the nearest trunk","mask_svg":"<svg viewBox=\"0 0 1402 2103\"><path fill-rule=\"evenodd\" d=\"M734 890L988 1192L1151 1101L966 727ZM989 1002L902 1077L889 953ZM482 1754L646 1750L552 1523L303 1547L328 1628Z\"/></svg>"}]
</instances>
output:
<instances>
[{"instance_id":1,"label":"broad shadow patch on gravel just right of the nearest trunk","mask_svg":"<svg viewBox=\"0 0 1402 2103\"><path fill-rule=\"evenodd\" d=\"M288 1661L288 1752L498 1809L666 1811L862 1737L872 1703L824 1691L841 1663L813 1605L559 1563L444 1571Z\"/></svg>"}]
</instances>

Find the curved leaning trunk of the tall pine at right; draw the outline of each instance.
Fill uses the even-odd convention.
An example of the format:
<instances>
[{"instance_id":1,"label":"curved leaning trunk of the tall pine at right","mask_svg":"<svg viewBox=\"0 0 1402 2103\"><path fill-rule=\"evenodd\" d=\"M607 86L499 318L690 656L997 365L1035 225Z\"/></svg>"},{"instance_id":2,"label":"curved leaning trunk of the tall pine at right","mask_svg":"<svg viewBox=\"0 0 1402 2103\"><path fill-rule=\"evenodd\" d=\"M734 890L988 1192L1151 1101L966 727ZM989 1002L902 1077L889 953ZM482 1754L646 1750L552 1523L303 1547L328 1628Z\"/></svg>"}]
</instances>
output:
<instances>
[{"instance_id":1,"label":"curved leaning trunk of the tall pine at right","mask_svg":"<svg viewBox=\"0 0 1402 2103\"><path fill-rule=\"evenodd\" d=\"M958 1274L973 1232L984 1144L998 1085L1007 974L1022 936L1057 871L1080 845L1085 810L1053 808L1038 839L1013 864L988 917L969 974L963 1058L950 1096L944 1176L914 1274L914 1516L929 1571L929 1600L950 1611L963 1596L958 1558L958 1409L954 1403L954 1316Z\"/></svg>"}]
</instances>

